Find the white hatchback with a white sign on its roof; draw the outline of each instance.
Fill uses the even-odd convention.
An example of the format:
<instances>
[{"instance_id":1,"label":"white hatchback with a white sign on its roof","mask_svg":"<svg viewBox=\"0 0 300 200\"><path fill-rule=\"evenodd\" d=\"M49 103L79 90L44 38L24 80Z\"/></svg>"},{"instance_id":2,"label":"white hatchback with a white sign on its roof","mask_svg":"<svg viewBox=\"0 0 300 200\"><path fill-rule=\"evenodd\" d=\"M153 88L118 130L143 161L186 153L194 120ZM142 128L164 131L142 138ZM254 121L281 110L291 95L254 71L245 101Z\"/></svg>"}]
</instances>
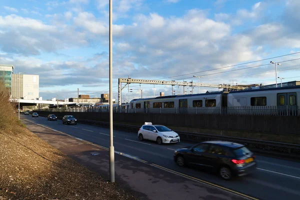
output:
<instances>
[{"instance_id":1,"label":"white hatchback with a white sign on its roof","mask_svg":"<svg viewBox=\"0 0 300 200\"><path fill-rule=\"evenodd\" d=\"M179 135L164 125L153 125L151 122L145 122L138 130L139 140L149 139L158 144L175 143L180 141Z\"/></svg>"}]
</instances>

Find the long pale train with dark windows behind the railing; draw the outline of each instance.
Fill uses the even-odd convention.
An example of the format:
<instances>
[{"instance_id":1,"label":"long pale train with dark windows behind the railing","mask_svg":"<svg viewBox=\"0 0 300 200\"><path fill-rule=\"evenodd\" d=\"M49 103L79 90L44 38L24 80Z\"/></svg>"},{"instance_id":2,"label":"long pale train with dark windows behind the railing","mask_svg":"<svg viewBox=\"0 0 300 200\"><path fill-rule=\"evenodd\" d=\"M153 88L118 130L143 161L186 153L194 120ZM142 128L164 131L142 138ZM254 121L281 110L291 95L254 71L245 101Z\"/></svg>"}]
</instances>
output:
<instances>
[{"instance_id":1,"label":"long pale train with dark windows behind the railing","mask_svg":"<svg viewBox=\"0 0 300 200\"><path fill-rule=\"evenodd\" d=\"M300 85L247 89L238 91L218 91L198 94L167 95L152 98L135 98L129 102L129 110L135 112L161 112L163 110L219 110L222 108L275 107L277 110L297 111L300 105ZM216 109L217 108L217 109Z\"/></svg>"}]
</instances>

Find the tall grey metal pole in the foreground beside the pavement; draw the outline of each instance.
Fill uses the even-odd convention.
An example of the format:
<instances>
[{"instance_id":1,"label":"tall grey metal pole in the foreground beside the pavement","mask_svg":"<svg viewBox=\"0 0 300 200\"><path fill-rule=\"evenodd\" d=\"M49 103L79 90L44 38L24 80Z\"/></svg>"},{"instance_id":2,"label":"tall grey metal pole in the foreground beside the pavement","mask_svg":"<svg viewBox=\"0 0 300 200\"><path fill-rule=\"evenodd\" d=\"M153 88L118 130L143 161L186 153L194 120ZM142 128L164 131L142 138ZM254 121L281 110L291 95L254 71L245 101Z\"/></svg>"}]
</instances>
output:
<instances>
[{"instance_id":1,"label":"tall grey metal pole in the foreground beside the pavement","mask_svg":"<svg viewBox=\"0 0 300 200\"><path fill-rule=\"evenodd\" d=\"M114 182L114 147L113 147L113 118L112 118L112 0L109 0L109 177Z\"/></svg>"}]
</instances>

